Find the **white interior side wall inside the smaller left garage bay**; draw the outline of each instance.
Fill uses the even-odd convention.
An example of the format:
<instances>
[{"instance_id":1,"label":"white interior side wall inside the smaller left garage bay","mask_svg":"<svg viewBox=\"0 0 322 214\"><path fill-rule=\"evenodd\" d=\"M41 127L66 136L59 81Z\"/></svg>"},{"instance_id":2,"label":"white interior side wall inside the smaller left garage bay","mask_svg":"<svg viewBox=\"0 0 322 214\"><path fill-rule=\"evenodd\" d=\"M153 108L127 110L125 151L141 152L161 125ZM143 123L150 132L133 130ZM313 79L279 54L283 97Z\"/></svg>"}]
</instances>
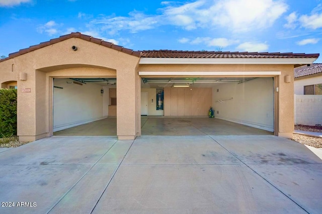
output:
<instances>
[{"instance_id":1,"label":"white interior side wall inside the smaller left garage bay","mask_svg":"<svg viewBox=\"0 0 322 214\"><path fill-rule=\"evenodd\" d=\"M54 79L54 86L62 87L54 88L54 131L103 119L103 109L108 108L108 103L103 102L108 99L108 94L101 96L102 86L72 82L66 78Z\"/></svg>"}]
</instances>

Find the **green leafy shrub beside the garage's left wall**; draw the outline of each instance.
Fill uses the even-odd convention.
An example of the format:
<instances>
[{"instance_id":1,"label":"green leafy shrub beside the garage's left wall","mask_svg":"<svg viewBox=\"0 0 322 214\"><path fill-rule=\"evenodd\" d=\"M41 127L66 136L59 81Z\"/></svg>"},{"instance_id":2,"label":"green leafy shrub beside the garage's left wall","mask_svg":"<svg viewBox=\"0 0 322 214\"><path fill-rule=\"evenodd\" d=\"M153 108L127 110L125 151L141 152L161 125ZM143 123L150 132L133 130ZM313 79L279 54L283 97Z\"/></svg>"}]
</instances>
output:
<instances>
[{"instance_id":1,"label":"green leafy shrub beside the garage's left wall","mask_svg":"<svg viewBox=\"0 0 322 214\"><path fill-rule=\"evenodd\" d=\"M17 89L0 89L0 138L17 135Z\"/></svg>"}]
</instances>

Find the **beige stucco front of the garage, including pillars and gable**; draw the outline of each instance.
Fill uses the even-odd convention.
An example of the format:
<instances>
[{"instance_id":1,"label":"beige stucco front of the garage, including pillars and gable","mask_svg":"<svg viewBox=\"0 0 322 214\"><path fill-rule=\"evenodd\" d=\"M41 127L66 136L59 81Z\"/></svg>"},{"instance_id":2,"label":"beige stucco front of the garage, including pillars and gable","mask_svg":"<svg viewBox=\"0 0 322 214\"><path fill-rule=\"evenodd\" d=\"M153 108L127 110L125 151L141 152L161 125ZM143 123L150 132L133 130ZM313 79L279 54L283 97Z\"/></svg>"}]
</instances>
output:
<instances>
[{"instance_id":1,"label":"beige stucco front of the garage, including pillars and gable","mask_svg":"<svg viewBox=\"0 0 322 214\"><path fill-rule=\"evenodd\" d=\"M77 47L77 51L72 50ZM34 141L53 135L53 78L116 77L117 136L119 140L141 135L139 71L206 72L280 71L281 75L235 75L236 77L274 77L274 132L292 137L293 68L292 64L139 64L140 57L108 48L81 38L69 38L0 62L0 83L18 84L18 136L21 141ZM20 80L27 73L27 80ZM291 82L284 82L290 75ZM224 75L220 75L225 77ZM157 77L157 76L153 76ZM233 77L233 76L229 76ZM22 92L30 88L31 92ZM126 114L124 114L126 113Z\"/></svg>"}]
</instances>

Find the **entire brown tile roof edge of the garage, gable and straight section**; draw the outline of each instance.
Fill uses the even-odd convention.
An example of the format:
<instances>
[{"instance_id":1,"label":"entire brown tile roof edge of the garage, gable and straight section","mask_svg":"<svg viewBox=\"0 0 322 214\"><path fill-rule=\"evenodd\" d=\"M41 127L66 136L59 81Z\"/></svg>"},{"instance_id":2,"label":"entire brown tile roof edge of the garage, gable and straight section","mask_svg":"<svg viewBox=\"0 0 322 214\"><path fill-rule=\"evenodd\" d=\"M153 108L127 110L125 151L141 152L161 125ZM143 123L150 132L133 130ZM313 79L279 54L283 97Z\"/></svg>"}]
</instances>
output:
<instances>
[{"instance_id":1,"label":"entire brown tile roof edge of the garage, gable and straight section","mask_svg":"<svg viewBox=\"0 0 322 214\"><path fill-rule=\"evenodd\" d=\"M56 39L51 39L48 42L42 42L38 45L30 46L26 49L21 49L18 52L9 54L9 57L0 60L5 61L22 54L67 40L69 38L79 38L90 41L99 45L106 46L127 54L131 54L142 58L318 58L319 54L305 54L305 53L258 53L258 52L215 52L215 51L175 51L175 50L148 50L148 51L133 51L102 39L94 38L79 32L70 33Z\"/></svg>"}]
</instances>

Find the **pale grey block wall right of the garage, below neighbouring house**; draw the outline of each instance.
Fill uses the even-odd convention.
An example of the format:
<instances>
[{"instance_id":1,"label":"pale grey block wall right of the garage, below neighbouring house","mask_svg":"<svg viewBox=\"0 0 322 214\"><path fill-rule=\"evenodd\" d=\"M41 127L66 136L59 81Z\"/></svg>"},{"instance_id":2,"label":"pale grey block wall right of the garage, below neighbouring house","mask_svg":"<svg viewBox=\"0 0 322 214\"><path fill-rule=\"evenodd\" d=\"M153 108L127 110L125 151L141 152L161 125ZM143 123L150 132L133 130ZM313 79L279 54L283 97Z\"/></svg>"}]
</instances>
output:
<instances>
[{"instance_id":1,"label":"pale grey block wall right of the garage, below neighbouring house","mask_svg":"<svg viewBox=\"0 0 322 214\"><path fill-rule=\"evenodd\" d=\"M322 95L294 94L294 124L322 125Z\"/></svg>"}]
</instances>

